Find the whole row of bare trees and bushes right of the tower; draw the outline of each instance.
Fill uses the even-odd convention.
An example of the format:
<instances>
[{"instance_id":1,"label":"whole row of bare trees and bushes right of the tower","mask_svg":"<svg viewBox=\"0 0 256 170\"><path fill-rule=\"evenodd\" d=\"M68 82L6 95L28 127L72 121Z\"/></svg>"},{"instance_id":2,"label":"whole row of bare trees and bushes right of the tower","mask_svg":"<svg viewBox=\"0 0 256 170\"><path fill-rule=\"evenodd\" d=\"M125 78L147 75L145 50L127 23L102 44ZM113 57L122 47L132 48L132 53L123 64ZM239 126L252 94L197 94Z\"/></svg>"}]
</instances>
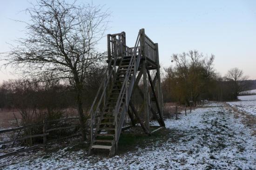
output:
<instances>
[{"instance_id":1,"label":"whole row of bare trees and bushes right of the tower","mask_svg":"<svg viewBox=\"0 0 256 170\"><path fill-rule=\"evenodd\" d=\"M240 92L249 88L243 71L232 68L222 77L213 67L214 55L203 56L198 51L173 54L174 66L164 69L163 97L189 105L189 101L236 100Z\"/></svg>"}]
</instances>

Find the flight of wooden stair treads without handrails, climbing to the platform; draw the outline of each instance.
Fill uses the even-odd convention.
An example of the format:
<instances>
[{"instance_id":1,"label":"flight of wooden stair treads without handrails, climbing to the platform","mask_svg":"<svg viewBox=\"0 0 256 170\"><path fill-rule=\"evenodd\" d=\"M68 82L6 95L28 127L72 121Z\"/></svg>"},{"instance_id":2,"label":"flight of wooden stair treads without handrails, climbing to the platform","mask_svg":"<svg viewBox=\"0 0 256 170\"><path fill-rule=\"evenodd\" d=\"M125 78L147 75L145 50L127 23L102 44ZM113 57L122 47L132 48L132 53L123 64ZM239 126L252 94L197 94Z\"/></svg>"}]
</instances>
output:
<instances>
[{"instance_id":1,"label":"flight of wooden stair treads without handrails, climbing to the platform","mask_svg":"<svg viewBox=\"0 0 256 170\"><path fill-rule=\"evenodd\" d=\"M120 100L121 106L119 111L121 112L122 110L126 110L126 99L130 98L131 96L131 94L128 94L127 96L126 91L121 94L121 88L123 85L128 85L128 87L131 89L133 88L130 86L130 81L134 74L134 65L130 64L131 58L132 56L124 56L121 64L119 65L114 84L107 99L103 114L100 117L99 126L95 131L95 138L93 138L91 142L91 149L95 148L111 150L113 147L115 147L115 131L117 131L118 128L118 124L115 123L114 116L115 105ZM128 72L128 79L125 81L125 76ZM125 114L125 112L123 114ZM123 124L123 120L119 123L119 125L120 124Z\"/></svg>"}]
</instances>

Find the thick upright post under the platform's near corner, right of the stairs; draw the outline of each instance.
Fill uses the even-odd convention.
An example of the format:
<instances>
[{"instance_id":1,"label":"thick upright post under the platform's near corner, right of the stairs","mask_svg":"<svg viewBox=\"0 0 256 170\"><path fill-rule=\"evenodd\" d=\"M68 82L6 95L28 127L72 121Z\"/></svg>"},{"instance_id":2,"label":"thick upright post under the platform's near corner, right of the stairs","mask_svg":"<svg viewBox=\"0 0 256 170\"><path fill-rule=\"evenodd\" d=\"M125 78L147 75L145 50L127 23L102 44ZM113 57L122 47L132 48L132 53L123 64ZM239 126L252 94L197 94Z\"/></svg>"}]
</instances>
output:
<instances>
[{"instance_id":1,"label":"thick upright post under the platform's near corner, right of the stairs","mask_svg":"<svg viewBox=\"0 0 256 170\"><path fill-rule=\"evenodd\" d=\"M142 72L143 72L143 103L144 103L144 119L145 119L145 126L149 130L149 110L148 110L148 78L147 78L147 70L146 70L146 61L142 61Z\"/></svg>"}]
</instances>

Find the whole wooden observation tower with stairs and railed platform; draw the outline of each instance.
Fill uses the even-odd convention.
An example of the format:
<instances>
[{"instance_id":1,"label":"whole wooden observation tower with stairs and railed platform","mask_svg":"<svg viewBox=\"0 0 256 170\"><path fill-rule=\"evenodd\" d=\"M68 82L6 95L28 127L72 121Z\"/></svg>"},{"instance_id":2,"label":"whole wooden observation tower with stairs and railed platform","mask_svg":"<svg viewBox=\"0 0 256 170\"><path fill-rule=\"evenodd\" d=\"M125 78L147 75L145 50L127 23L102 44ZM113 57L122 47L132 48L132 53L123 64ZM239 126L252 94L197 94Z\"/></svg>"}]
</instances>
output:
<instances>
[{"instance_id":1,"label":"whole wooden observation tower with stairs and railed platform","mask_svg":"<svg viewBox=\"0 0 256 170\"><path fill-rule=\"evenodd\" d=\"M150 115L160 126L165 126L158 44L148 38L144 29L139 31L134 47L126 46L125 32L108 34L107 62L108 70L90 109L88 153L106 149L113 156L127 115L131 124L135 125L136 120L147 134L150 134ZM142 77L143 84L139 85ZM140 111L131 100L135 89L143 101Z\"/></svg>"}]
</instances>

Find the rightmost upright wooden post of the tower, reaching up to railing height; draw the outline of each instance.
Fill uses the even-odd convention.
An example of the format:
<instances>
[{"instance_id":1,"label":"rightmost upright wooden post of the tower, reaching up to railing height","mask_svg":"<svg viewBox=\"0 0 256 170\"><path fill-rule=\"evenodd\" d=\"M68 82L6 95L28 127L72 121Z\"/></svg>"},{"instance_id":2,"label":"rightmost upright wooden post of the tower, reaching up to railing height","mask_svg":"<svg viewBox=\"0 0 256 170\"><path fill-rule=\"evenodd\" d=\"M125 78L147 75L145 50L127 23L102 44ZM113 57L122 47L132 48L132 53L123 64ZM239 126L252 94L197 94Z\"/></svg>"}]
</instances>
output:
<instances>
[{"instance_id":1,"label":"rightmost upright wooden post of the tower, reaching up to railing height","mask_svg":"<svg viewBox=\"0 0 256 170\"><path fill-rule=\"evenodd\" d=\"M155 63L156 67L156 76L157 76L157 98L160 105L161 115L163 118L163 97L162 97L162 87L161 87L161 76L160 76L160 64L159 64L159 53L158 53L158 43L155 43Z\"/></svg>"}]
</instances>

